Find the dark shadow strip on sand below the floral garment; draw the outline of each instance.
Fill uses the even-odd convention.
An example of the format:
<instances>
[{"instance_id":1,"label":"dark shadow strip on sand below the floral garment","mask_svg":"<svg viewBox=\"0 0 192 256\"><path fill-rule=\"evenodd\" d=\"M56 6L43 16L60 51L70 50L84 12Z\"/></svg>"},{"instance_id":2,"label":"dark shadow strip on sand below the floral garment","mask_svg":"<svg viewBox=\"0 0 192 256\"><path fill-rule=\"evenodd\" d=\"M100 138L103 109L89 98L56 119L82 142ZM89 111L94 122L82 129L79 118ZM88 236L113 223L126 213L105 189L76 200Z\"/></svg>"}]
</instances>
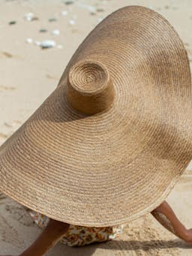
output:
<instances>
[{"instance_id":1,"label":"dark shadow strip on sand below the floral garment","mask_svg":"<svg viewBox=\"0 0 192 256\"><path fill-rule=\"evenodd\" d=\"M163 240L163 239L152 239L152 240L144 240L144 241L138 241L138 240L111 240L108 242L94 242L90 245L85 246L78 246L78 247L70 247L68 245L60 244L54 250L51 254L48 254L49 256L55 256L57 255L57 249L59 251L63 250L65 253L63 255L71 255L71 256L91 256L92 254L95 254L96 249L101 248L104 250L110 250L111 255L113 255L113 251L121 251L122 255L127 255L126 253L129 251L131 254L131 251L142 251L147 252L150 251L150 253L155 254L155 250L157 249L169 249L169 248L191 248L192 245L187 245L185 242L181 241L180 239L169 239L169 240ZM174 253L174 251L172 251Z\"/></svg>"}]
</instances>

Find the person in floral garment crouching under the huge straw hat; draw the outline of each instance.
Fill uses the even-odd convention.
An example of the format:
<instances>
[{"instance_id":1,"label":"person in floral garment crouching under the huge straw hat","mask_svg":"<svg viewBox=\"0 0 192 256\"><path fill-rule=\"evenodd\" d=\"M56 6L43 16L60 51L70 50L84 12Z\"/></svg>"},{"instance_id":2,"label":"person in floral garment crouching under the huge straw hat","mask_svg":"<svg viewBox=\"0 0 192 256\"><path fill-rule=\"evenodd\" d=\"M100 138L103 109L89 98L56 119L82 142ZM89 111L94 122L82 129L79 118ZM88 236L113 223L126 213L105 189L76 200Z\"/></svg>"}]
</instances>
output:
<instances>
[{"instance_id":1,"label":"person in floral garment crouching under the huge straw hat","mask_svg":"<svg viewBox=\"0 0 192 256\"><path fill-rule=\"evenodd\" d=\"M192 243L192 229L187 229L184 227L184 224L181 224L166 201L163 201L151 214L163 227L174 233L175 236L178 236L178 238L183 239L185 242ZM43 256L58 242L69 246L89 245L93 242L107 242L119 236L118 228L122 231L121 225L115 227L115 230L114 227L83 227L55 221L52 218L49 219L39 212L36 212L35 215L38 218L34 218L34 220L40 227L44 227L43 232L31 246L18 256Z\"/></svg>"}]
</instances>

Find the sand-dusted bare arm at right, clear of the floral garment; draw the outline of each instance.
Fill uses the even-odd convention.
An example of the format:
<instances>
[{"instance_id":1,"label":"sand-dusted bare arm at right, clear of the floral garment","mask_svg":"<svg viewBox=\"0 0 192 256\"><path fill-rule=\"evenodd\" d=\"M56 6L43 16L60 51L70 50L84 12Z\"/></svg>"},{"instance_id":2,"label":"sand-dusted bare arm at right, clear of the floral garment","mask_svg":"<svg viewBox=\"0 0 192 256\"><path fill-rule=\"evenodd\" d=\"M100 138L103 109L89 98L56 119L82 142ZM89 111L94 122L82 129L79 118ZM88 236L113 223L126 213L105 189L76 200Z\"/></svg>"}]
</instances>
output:
<instances>
[{"instance_id":1,"label":"sand-dusted bare arm at right, clear of the floral garment","mask_svg":"<svg viewBox=\"0 0 192 256\"><path fill-rule=\"evenodd\" d=\"M175 236L178 236L185 242L192 242L192 230L187 230L186 227L184 227L184 224L181 224L166 201L163 201L163 203L154 209L151 214L163 225L163 227L174 233Z\"/></svg>"}]
</instances>

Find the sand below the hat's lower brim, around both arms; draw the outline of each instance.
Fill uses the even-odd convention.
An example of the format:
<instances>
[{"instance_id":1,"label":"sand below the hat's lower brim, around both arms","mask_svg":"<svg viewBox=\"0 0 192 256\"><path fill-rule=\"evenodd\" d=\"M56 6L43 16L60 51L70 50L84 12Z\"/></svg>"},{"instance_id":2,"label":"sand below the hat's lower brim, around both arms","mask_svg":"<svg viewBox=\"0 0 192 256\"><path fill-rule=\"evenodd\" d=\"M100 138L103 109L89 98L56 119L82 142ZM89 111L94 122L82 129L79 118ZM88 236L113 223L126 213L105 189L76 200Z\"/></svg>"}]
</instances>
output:
<instances>
[{"instance_id":1,"label":"sand below the hat's lower brim, around both arms","mask_svg":"<svg viewBox=\"0 0 192 256\"><path fill-rule=\"evenodd\" d=\"M192 202L192 173L186 171L181 180L169 194L170 203L178 218L186 225L192 226L190 209ZM179 203L178 203L179 202ZM23 206L10 198L0 199L0 250L1 254L18 254L40 234L40 228L31 221ZM149 213L127 224L118 239L81 248L71 248L58 244L49 256L89 256L89 255L191 255L192 246L177 239L165 230Z\"/></svg>"}]
</instances>

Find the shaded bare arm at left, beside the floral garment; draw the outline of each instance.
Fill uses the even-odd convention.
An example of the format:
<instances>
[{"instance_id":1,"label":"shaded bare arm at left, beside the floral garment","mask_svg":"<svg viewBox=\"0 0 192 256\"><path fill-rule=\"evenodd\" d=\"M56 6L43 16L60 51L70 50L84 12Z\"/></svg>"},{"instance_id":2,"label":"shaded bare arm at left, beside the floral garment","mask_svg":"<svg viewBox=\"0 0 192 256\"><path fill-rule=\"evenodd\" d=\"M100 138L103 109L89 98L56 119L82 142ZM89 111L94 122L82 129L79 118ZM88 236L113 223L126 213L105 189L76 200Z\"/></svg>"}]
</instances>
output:
<instances>
[{"instance_id":1,"label":"shaded bare arm at left, beside the floral garment","mask_svg":"<svg viewBox=\"0 0 192 256\"><path fill-rule=\"evenodd\" d=\"M50 248L62 239L62 236L67 232L69 224L50 220L38 239L28 248L23 251L20 256L43 256Z\"/></svg>"}]
</instances>

